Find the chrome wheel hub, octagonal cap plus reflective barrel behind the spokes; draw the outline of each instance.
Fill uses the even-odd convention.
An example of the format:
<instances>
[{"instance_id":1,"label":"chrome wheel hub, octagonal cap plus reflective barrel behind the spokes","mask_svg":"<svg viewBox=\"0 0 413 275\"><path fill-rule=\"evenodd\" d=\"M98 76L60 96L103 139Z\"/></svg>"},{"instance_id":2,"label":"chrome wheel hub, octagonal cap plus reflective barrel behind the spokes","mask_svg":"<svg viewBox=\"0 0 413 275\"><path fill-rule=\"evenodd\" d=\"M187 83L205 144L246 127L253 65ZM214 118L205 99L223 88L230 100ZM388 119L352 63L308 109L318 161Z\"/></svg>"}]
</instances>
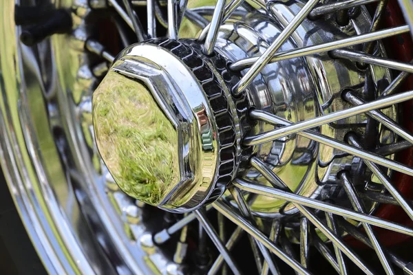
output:
<instances>
[{"instance_id":1,"label":"chrome wheel hub, octagonal cap plus reflective barrel behind the spokes","mask_svg":"<svg viewBox=\"0 0 413 275\"><path fill-rule=\"evenodd\" d=\"M366 78L354 65L325 53L268 64L242 96L231 95L231 87L247 70L233 69L236 62L260 56L302 4L275 3L271 16L259 7L248 7L248 3L242 5L221 26L213 56L202 54L202 43L184 39L202 30L184 19L179 33L183 39L158 39L127 47L94 92L100 155L116 183L131 197L171 212L189 212L222 196L235 176L268 184L245 165L251 155L262 159L291 190L306 197L337 192L321 186L335 181L343 168L357 170L359 160L300 135L242 146L246 135L276 127L249 119L250 108L299 122L350 107L341 99L343 89L374 97L379 92L377 79L390 80L388 69L371 67L372 74ZM325 21L306 19L279 52L346 38L370 28L364 10L346 27L338 25L333 16L327 17ZM385 113L396 120L395 109ZM369 123L366 115L356 115L313 131L343 140L351 130L368 139L372 135ZM385 129L374 135L380 135L382 143L394 140ZM231 196L226 198L231 200ZM264 196L255 197L251 210L264 217L297 212L292 204Z\"/></svg>"}]
</instances>

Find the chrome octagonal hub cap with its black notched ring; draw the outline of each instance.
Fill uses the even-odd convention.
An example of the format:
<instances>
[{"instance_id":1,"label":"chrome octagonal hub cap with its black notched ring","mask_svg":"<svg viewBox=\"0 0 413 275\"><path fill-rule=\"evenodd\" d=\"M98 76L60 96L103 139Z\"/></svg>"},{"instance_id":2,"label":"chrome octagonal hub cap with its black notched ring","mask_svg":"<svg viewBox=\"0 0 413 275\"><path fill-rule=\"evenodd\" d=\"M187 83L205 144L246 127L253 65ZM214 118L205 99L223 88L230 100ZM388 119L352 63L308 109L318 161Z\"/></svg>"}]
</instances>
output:
<instances>
[{"instance_id":1,"label":"chrome octagonal hub cap with its black notched ring","mask_svg":"<svg viewBox=\"0 0 413 275\"><path fill-rule=\"evenodd\" d=\"M189 212L224 192L236 167L237 131L219 78L178 41L120 53L92 107L98 151L127 195Z\"/></svg>"}]
</instances>

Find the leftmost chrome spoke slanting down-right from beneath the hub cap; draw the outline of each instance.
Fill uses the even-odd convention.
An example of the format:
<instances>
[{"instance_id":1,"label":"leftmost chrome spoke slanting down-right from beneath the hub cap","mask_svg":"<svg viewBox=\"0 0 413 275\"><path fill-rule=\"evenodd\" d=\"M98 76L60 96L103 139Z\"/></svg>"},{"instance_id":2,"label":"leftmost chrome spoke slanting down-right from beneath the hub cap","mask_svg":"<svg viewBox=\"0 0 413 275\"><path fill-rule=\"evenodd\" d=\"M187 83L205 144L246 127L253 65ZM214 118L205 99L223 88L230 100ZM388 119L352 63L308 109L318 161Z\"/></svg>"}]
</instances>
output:
<instances>
[{"instance_id":1,"label":"leftmost chrome spoke slanting down-right from beneath the hub cap","mask_svg":"<svg viewBox=\"0 0 413 275\"><path fill-rule=\"evenodd\" d=\"M204 230L207 231L207 234L215 244L220 254L222 254L222 256L224 257L226 264L229 266L229 268L231 268L232 272L234 274L241 274L240 269L235 264L235 261L233 261L226 247L222 244L220 237L218 236L217 232L215 232L215 230L213 229L211 223L209 223L207 217L205 217L205 214L202 213L201 210L195 210L193 213L197 217L198 221L200 221L200 223L202 224Z\"/></svg>"}]
</instances>

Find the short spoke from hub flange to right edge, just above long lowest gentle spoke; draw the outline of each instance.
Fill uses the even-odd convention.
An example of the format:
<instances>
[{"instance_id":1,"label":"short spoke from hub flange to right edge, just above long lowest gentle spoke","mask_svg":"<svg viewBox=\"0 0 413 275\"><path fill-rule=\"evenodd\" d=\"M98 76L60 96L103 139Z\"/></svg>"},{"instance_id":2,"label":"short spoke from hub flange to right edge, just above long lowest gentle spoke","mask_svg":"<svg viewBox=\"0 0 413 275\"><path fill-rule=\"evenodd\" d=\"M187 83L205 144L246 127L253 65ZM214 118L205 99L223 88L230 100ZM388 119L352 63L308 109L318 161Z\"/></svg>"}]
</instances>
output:
<instances>
[{"instance_id":1,"label":"short spoke from hub flange to right edge, just above long lowest gentle spoke","mask_svg":"<svg viewBox=\"0 0 413 275\"><path fill-rule=\"evenodd\" d=\"M350 133L348 135L348 141L354 146L361 148L361 144L359 140L357 140L357 136L355 134ZM399 203L399 206L401 206L401 208L405 210L406 214L410 217L410 219L413 220L412 206L410 206L409 203L407 203L405 198L400 194L399 190L397 190L392 185L392 183L390 182L390 178L387 175L385 175L376 164L373 164L372 162L369 162L365 159L363 159L363 162L366 163L366 165L368 166L368 168L370 168L372 173L380 180L381 184L385 186L385 188L390 192L394 199Z\"/></svg>"}]
</instances>

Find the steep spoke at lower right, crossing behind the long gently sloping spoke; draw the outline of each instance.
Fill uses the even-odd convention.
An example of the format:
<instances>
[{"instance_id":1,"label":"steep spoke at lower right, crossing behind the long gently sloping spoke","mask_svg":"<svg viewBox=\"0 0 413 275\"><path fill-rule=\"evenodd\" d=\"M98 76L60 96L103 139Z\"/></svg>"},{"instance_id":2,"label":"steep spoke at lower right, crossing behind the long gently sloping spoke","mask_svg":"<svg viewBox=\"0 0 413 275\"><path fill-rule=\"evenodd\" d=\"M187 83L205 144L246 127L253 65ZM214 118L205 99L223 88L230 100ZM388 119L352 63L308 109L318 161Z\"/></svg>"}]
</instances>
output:
<instances>
[{"instance_id":1,"label":"steep spoke at lower right, crossing behind the long gently sloping spoke","mask_svg":"<svg viewBox=\"0 0 413 275\"><path fill-rule=\"evenodd\" d=\"M366 210L364 209L363 204L361 203L361 201L359 200L359 197L357 196L357 191L354 189L354 185L350 181L348 172L341 173L340 177L341 177L341 180L343 181L344 190L346 190L348 199L350 199L350 202L352 203L354 210L359 211L361 213L366 213ZM370 239L370 242L372 243L372 246L374 250L376 251L377 256L379 256L381 265L383 265L383 268L386 274L394 274L394 271L392 270L392 265L390 265L387 257L385 256L383 248L381 248L379 240L377 240L376 236L374 235L374 232L370 224L363 223L363 228L364 230L366 230L366 233L368 234L368 239Z\"/></svg>"}]
</instances>

